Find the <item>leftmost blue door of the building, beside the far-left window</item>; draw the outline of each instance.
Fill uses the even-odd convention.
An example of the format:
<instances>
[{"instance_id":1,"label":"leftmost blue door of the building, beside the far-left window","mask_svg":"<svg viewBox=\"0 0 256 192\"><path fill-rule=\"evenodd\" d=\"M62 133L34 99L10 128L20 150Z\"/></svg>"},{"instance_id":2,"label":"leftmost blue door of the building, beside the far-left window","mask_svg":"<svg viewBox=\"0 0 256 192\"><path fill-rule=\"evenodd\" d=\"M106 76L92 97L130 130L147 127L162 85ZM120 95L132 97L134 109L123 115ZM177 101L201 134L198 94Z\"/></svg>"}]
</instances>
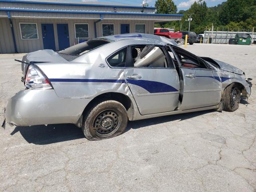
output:
<instances>
[{"instance_id":1,"label":"leftmost blue door of the building, beside the far-left window","mask_svg":"<svg viewBox=\"0 0 256 192\"><path fill-rule=\"evenodd\" d=\"M44 49L52 49L55 51L56 48L55 48L53 24L52 23L41 24L41 28L42 28Z\"/></svg>"}]
</instances>

